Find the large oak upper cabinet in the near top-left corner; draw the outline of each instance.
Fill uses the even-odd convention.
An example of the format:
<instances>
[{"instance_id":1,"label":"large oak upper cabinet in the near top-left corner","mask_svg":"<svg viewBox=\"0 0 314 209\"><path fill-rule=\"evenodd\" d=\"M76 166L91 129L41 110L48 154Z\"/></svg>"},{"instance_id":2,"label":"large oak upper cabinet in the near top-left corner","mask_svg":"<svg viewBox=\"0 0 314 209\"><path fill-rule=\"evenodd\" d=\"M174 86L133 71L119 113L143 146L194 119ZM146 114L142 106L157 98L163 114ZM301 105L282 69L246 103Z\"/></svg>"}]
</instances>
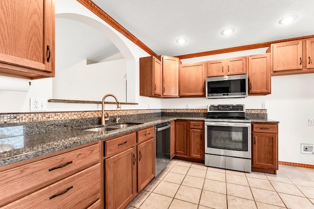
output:
<instances>
[{"instance_id":1,"label":"large oak upper cabinet in the near top-left corner","mask_svg":"<svg viewBox=\"0 0 314 209\"><path fill-rule=\"evenodd\" d=\"M1 0L0 22L0 75L54 77L54 0Z\"/></svg>"}]
</instances>

